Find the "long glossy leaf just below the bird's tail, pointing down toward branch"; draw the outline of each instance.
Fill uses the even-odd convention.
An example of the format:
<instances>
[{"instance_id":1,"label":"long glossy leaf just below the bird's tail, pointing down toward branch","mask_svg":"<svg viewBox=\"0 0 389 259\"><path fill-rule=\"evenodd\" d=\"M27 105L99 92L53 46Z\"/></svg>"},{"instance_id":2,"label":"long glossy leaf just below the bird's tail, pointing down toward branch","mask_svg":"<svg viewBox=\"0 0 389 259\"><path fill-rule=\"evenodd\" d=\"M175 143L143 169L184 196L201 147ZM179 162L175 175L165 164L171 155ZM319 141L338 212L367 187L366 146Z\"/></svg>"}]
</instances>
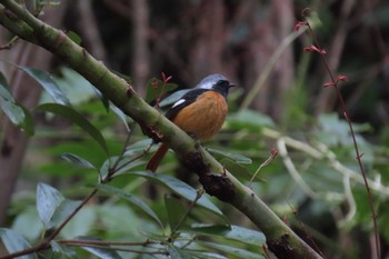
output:
<instances>
[{"instance_id":1,"label":"long glossy leaf just below the bird's tail, pointing down toward branch","mask_svg":"<svg viewBox=\"0 0 389 259\"><path fill-rule=\"evenodd\" d=\"M160 186L164 186L171 191L176 192L177 195L186 198L189 201L193 201L197 197L197 191L188 186L187 183L173 178L166 176L163 173L152 173L152 172L147 172L147 171L137 171L137 172L130 172L131 175L144 177L151 181L157 182ZM227 220L225 215L219 210L218 207L216 207L206 195L203 195L197 203L198 206L209 210L210 212L223 218Z\"/></svg>"}]
</instances>

